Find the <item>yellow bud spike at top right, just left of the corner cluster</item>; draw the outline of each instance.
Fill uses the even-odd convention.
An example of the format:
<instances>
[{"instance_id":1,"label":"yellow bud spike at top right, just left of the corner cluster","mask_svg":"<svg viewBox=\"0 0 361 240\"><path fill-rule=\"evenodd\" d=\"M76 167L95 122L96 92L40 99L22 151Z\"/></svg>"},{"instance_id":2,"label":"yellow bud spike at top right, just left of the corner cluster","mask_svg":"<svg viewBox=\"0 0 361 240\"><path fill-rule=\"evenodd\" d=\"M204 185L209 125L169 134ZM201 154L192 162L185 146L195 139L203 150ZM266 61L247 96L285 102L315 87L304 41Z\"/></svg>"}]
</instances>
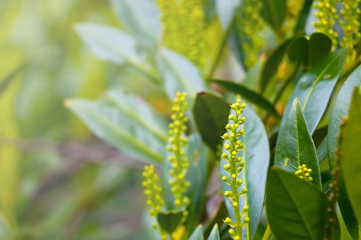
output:
<instances>
[{"instance_id":1,"label":"yellow bud spike at top right, just left of the corner cluster","mask_svg":"<svg viewBox=\"0 0 361 240\"><path fill-rule=\"evenodd\" d=\"M318 0L317 3L314 3L314 8L318 10L318 12L315 12L318 21L314 23L314 27L316 27L317 32L331 38L333 47L338 44L338 33L332 29L338 20L336 3L337 0Z\"/></svg>"}]
</instances>

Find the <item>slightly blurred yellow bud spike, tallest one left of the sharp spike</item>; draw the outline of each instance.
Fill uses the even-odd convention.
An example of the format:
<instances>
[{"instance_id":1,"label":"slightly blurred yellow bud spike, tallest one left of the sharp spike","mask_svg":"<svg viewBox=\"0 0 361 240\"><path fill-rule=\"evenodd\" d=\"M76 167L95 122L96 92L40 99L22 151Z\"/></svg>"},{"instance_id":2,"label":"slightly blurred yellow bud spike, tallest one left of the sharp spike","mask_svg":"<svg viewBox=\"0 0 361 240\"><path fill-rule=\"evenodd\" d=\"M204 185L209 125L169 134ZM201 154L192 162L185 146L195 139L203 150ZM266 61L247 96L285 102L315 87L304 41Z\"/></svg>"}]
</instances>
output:
<instances>
[{"instance_id":1,"label":"slightly blurred yellow bud spike, tallest one left of the sharp spike","mask_svg":"<svg viewBox=\"0 0 361 240\"><path fill-rule=\"evenodd\" d=\"M171 155L168 157L172 168L169 170L171 179L168 181L171 186L171 191L175 197L175 206L184 207L190 204L188 197L184 193L190 186L190 182L186 180L186 173L189 168L189 161L184 156L184 148L188 142L186 138L186 122L188 118L184 114L187 109L186 93L177 93L172 107L171 119L169 123L168 132L168 152Z\"/></svg>"}]
</instances>

